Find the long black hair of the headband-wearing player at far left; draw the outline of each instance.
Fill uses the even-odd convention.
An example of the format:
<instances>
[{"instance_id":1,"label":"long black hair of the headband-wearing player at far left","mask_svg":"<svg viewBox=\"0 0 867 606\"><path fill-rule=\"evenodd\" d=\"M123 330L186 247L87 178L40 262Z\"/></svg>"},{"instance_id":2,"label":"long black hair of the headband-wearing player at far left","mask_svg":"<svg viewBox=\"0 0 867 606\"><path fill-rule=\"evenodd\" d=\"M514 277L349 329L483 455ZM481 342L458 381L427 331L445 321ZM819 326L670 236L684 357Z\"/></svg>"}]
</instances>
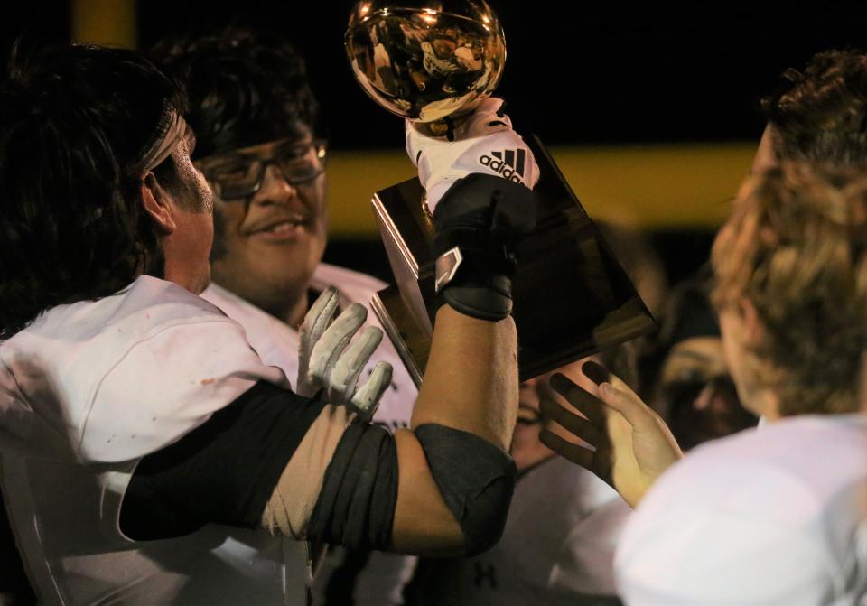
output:
<instances>
[{"instance_id":1,"label":"long black hair of the headband-wearing player at far left","mask_svg":"<svg viewBox=\"0 0 867 606\"><path fill-rule=\"evenodd\" d=\"M159 234L130 168L172 81L135 51L16 44L0 83L0 339L41 312L162 275ZM174 161L154 173L175 183Z\"/></svg>"}]
</instances>

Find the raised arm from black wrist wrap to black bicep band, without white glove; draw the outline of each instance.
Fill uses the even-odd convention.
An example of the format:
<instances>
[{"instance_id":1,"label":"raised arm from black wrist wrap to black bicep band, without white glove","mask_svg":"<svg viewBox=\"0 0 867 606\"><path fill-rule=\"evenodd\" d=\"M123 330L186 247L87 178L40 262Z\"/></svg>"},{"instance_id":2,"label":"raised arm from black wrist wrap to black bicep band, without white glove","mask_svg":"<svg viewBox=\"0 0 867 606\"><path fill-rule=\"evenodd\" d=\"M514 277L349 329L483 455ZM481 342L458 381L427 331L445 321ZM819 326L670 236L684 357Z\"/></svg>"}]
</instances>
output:
<instances>
[{"instance_id":1,"label":"raised arm from black wrist wrap to black bicep band, without white glove","mask_svg":"<svg viewBox=\"0 0 867 606\"><path fill-rule=\"evenodd\" d=\"M478 553L499 539L516 475L507 452L518 386L508 247L532 224L533 203L527 188L488 175L462 179L441 200L434 249L459 248L464 265L440 281L412 427L393 437L346 431L307 536L411 553Z\"/></svg>"}]
</instances>

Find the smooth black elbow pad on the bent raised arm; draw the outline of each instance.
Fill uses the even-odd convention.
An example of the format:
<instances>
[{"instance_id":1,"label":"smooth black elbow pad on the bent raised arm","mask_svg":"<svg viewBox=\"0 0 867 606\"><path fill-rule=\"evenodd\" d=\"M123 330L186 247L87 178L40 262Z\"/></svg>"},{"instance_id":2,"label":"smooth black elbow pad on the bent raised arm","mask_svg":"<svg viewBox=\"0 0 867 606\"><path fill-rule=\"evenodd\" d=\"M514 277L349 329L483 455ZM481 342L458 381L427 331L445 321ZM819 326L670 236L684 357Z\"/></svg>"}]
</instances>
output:
<instances>
[{"instance_id":1,"label":"smooth black elbow pad on the bent raised arm","mask_svg":"<svg viewBox=\"0 0 867 606\"><path fill-rule=\"evenodd\" d=\"M439 424L415 428L431 475L463 531L467 555L499 541L515 490L515 461L478 435Z\"/></svg>"}]
</instances>

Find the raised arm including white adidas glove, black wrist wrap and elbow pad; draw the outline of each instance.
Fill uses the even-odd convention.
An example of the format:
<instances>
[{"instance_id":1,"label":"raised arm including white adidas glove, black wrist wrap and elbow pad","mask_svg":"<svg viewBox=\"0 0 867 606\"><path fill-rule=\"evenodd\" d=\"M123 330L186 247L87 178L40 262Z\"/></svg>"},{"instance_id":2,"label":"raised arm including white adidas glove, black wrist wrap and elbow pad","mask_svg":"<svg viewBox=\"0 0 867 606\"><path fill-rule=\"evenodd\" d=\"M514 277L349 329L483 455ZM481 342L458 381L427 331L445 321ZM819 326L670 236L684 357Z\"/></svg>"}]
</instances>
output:
<instances>
[{"instance_id":1,"label":"raised arm including white adidas glove, black wrist wrap and elbow pad","mask_svg":"<svg viewBox=\"0 0 867 606\"><path fill-rule=\"evenodd\" d=\"M392 444L370 438L363 446L338 448L313 517L339 520L331 529L314 521L314 535L346 541L340 520L350 516L351 478L374 476L366 523L387 545L412 553L478 553L502 533L516 470L508 443L517 414L517 342L511 312L515 269L512 245L535 224L536 202L527 185L537 173L532 154L511 130L501 102L491 100L458 127L454 140L427 137L407 125L407 151L419 167L433 210L440 309L431 355L415 404L412 427ZM484 174L478 158L488 148L526 150L527 184ZM490 150L488 150L490 151ZM474 172L478 164L480 172ZM434 204L435 202L435 204ZM359 432L359 429L353 430ZM368 461L362 471L361 461ZM373 462L379 461L376 469ZM342 471L350 466L353 471ZM396 468L396 470L394 469ZM383 495L394 490L396 499ZM357 494L357 489L352 489ZM376 507L373 507L373 505ZM389 508L391 508L389 510ZM389 533L381 529L391 521ZM352 534L351 532L349 533ZM371 545L366 545L371 546Z\"/></svg>"}]
</instances>

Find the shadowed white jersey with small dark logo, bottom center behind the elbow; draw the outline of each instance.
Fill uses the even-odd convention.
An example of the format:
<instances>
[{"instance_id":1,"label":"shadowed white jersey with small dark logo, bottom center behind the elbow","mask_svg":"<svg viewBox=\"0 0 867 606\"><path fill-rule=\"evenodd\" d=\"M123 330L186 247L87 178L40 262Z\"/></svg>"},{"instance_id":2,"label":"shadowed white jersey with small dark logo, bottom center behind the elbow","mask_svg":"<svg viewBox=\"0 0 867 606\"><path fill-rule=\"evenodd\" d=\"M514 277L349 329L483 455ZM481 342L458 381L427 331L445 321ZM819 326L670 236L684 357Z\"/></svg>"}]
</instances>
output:
<instances>
[{"instance_id":1,"label":"shadowed white jersey with small dark logo, bottom center behind the elbow","mask_svg":"<svg viewBox=\"0 0 867 606\"><path fill-rule=\"evenodd\" d=\"M554 457L517 480L497 545L425 563L423 606L620 603L612 560L632 508L590 471Z\"/></svg>"}]
</instances>

